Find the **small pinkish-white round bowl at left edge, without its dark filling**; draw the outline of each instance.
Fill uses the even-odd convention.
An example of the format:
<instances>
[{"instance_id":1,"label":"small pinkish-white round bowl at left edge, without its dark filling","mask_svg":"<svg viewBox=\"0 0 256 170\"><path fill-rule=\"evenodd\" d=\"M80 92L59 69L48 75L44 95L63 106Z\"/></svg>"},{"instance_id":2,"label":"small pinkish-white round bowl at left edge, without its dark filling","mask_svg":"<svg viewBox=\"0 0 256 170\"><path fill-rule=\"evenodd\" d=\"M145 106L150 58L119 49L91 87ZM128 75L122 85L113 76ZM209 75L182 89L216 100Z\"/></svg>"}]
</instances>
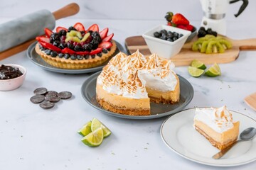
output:
<instances>
[{"instance_id":1,"label":"small pinkish-white round bowl at left edge, without its dark filling","mask_svg":"<svg viewBox=\"0 0 256 170\"><path fill-rule=\"evenodd\" d=\"M11 66L18 68L23 74L20 77L14 79L0 79L0 91L11 91L17 89L23 84L23 81L26 77L26 69L18 64L4 64L6 66Z\"/></svg>"}]
</instances>

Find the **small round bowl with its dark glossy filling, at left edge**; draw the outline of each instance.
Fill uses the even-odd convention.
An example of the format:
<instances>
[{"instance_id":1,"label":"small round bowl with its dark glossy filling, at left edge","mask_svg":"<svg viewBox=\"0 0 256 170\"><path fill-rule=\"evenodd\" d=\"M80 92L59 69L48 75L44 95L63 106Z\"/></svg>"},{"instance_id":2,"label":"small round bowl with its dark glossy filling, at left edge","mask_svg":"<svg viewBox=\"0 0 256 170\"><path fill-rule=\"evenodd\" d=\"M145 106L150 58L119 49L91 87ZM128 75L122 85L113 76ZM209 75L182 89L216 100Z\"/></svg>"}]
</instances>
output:
<instances>
[{"instance_id":1,"label":"small round bowl with its dark glossy filling, at left edge","mask_svg":"<svg viewBox=\"0 0 256 170\"><path fill-rule=\"evenodd\" d=\"M0 91L11 91L23 84L26 69L18 64L0 64Z\"/></svg>"}]
</instances>

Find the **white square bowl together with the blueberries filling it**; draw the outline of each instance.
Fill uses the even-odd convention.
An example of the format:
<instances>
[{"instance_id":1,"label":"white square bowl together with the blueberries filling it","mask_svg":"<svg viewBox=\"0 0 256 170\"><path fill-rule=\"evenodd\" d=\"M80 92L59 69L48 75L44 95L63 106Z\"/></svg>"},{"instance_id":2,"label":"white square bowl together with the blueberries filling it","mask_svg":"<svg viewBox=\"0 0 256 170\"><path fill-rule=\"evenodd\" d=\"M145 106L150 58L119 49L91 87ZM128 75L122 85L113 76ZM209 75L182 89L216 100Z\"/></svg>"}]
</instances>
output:
<instances>
[{"instance_id":1,"label":"white square bowl together with the blueberries filling it","mask_svg":"<svg viewBox=\"0 0 256 170\"><path fill-rule=\"evenodd\" d=\"M142 35L150 52L160 57L171 59L181 51L191 31L181 28L161 25Z\"/></svg>"}]
</instances>

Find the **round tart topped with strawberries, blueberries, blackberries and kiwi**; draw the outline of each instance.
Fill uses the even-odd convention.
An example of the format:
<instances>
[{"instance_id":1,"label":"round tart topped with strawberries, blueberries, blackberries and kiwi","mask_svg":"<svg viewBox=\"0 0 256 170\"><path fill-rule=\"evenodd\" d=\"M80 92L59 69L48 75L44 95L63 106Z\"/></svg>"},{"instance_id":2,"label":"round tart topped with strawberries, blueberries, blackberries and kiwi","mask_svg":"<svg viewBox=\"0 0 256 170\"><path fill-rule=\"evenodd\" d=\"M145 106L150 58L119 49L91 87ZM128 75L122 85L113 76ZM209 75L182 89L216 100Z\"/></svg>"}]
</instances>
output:
<instances>
[{"instance_id":1,"label":"round tart topped with strawberries, blueberries, blackberries and kiwi","mask_svg":"<svg viewBox=\"0 0 256 170\"><path fill-rule=\"evenodd\" d=\"M97 67L117 49L112 40L114 33L107 35L108 28L99 31L97 24L87 30L82 23L75 23L68 29L59 26L56 33L45 28L45 33L36 37L36 52L45 62L61 69Z\"/></svg>"}]
</instances>

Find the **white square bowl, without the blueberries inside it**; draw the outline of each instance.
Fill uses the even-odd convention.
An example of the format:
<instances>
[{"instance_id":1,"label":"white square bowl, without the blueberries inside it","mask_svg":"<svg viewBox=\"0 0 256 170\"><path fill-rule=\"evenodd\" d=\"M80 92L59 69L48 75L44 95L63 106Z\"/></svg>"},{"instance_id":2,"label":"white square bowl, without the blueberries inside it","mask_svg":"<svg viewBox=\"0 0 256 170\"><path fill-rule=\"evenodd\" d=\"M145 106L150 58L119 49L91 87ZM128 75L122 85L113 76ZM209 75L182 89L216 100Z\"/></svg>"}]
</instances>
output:
<instances>
[{"instance_id":1,"label":"white square bowl, without the blueberries inside it","mask_svg":"<svg viewBox=\"0 0 256 170\"><path fill-rule=\"evenodd\" d=\"M178 34L183 34L181 38L178 38L174 42L168 40L161 40L160 38L154 37L154 32L159 30L167 30L171 32L176 32ZM150 52L156 53L160 57L166 59L171 59L174 55L177 55L181 51L182 46L186 42L188 36L191 35L191 31L183 30L181 28L176 28L172 26L161 25L153 28L142 35L148 45Z\"/></svg>"}]
</instances>

